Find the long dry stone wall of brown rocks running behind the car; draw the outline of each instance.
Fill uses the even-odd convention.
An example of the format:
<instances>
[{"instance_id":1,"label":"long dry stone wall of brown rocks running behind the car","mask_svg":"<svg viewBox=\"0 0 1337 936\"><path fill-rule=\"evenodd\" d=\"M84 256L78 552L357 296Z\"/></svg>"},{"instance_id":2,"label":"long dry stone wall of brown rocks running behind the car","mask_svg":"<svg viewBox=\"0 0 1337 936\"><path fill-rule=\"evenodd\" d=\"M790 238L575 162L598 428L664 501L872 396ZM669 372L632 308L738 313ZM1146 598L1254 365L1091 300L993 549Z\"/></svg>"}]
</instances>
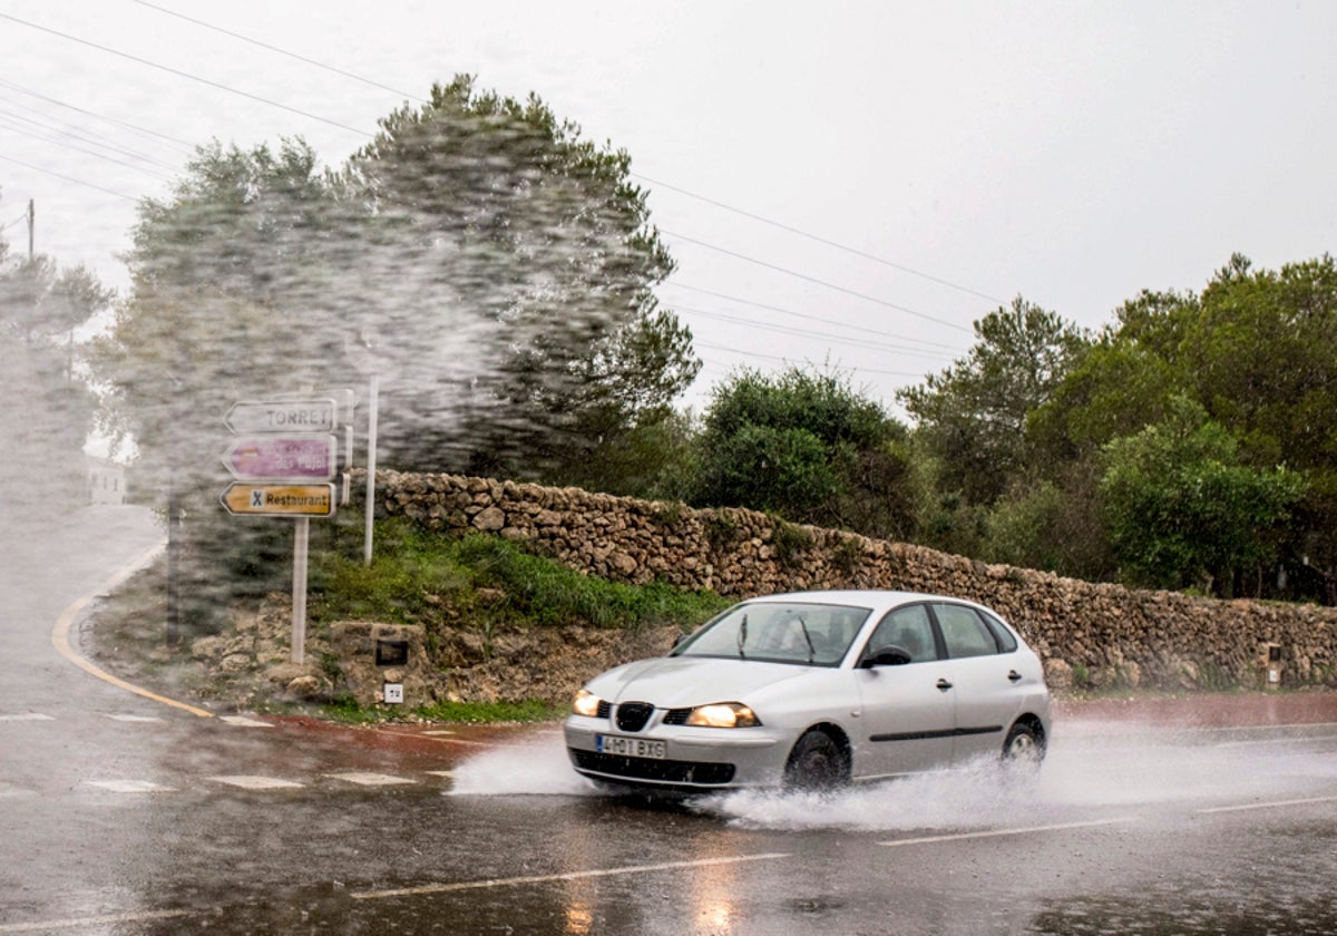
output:
<instances>
[{"instance_id":1,"label":"long dry stone wall of brown rocks running behind the car","mask_svg":"<svg viewBox=\"0 0 1337 936\"><path fill-rule=\"evenodd\" d=\"M1134 591L793 525L755 511L693 509L575 488L386 471L377 472L376 499L380 513L443 532L524 540L575 570L618 582L659 579L737 598L900 588L972 599L1021 631L1056 687L1263 686L1269 645L1281 649L1281 685L1337 686L1334 608Z\"/></svg>"}]
</instances>

